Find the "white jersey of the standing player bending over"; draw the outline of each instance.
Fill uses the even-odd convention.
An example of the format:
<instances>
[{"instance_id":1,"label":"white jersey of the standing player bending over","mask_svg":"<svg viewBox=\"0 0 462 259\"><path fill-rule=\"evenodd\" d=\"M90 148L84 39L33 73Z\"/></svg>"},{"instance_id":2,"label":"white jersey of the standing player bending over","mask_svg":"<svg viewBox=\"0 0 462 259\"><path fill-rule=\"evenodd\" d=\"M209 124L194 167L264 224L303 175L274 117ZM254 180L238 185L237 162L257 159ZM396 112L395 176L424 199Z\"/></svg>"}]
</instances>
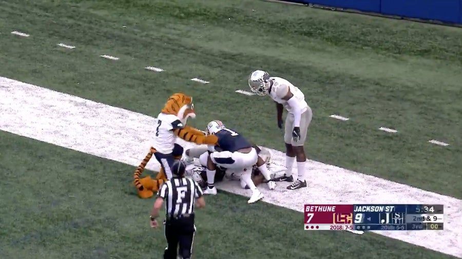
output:
<instances>
[{"instance_id":1,"label":"white jersey of the standing player bending over","mask_svg":"<svg viewBox=\"0 0 462 259\"><path fill-rule=\"evenodd\" d=\"M305 101L305 95L302 91L300 91L300 89L298 89L298 87L292 85L291 82L288 82L286 79L281 77L274 76L269 77L269 79L273 81L273 86L271 87L271 91L269 91L269 96L271 96L275 102L282 104L288 112L294 113L294 111L292 111L292 107L287 103L287 101L282 99L285 95L287 95L287 92L290 89L291 93L299 102L300 107L302 107L301 113L306 111L308 104Z\"/></svg>"}]
</instances>

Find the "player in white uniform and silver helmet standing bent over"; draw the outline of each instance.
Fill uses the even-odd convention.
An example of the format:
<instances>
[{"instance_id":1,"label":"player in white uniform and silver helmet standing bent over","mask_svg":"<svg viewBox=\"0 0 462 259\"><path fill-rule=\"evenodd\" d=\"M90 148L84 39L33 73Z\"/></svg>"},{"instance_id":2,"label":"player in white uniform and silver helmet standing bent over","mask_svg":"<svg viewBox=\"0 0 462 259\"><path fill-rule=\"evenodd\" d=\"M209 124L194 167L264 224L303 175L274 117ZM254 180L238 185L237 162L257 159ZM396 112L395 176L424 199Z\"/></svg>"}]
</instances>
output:
<instances>
[{"instance_id":1,"label":"player in white uniform and silver helmet standing bent over","mask_svg":"<svg viewBox=\"0 0 462 259\"><path fill-rule=\"evenodd\" d=\"M306 187L305 162L306 155L303 144L306 140L308 127L310 126L313 113L310 106L305 102L305 95L281 77L269 77L265 71L256 70L248 78L248 86L252 92L264 96L268 94L275 102L277 109L278 127L282 129L282 110L288 111L285 117L284 142L285 142L285 167L284 175L275 181L294 182L292 166L297 157L298 180L287 186L289 190Z\"/></svg>"}]
</instances>

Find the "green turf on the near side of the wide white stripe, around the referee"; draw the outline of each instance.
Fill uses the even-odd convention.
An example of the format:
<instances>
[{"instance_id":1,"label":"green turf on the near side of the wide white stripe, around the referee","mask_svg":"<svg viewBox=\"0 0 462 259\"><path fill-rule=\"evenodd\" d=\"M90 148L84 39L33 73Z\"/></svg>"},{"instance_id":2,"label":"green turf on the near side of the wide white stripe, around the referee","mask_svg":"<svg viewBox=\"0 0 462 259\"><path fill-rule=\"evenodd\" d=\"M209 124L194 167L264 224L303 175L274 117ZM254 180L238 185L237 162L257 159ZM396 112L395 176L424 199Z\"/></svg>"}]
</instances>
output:
<instances>
[{"instance_id":1,"label":"green turf on the near side of the wide white stripe, around the referee","mask_svg":"<svg viewBox=\"0 0 462 259\"><path fill-rule=\"evenodd\" d=\"M132 167L0 131L0 257L161 258ZM71 195L71 196L69 196ZM197 258L450 258L373 233L304 231L303 214L220 192L197 212ZM162 216L163 218L163 216Z\"/></svg>"}]
</instances>

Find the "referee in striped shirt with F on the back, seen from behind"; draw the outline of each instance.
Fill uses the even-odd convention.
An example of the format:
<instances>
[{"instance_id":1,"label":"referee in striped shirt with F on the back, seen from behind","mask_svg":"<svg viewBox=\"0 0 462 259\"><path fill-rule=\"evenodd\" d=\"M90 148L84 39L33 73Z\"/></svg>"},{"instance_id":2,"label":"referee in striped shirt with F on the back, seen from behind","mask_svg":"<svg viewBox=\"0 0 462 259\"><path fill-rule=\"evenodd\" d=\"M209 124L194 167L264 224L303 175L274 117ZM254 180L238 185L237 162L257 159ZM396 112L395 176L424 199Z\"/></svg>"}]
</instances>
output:
<instances>
[{"instance_id":1,"label":"referee in striped shirt with F on the back, seen from behind","mask_svg":"<svg viewBox=\"0 0 462 259\"><path fill-rule=\"evenodd\" d=\"M191 178L185 177L186 166L183 162L175 161L171 166L172 178L165 182L157 193L156 202L151 211L151 227L159 226L156 218L159 210L165 203L165 248L164 259L176 259L178 250L183 259L189 259L194 240L194 203L197 199L197 207L205 207L204 197L199 185Z\"/></svg>"}]
</instances>

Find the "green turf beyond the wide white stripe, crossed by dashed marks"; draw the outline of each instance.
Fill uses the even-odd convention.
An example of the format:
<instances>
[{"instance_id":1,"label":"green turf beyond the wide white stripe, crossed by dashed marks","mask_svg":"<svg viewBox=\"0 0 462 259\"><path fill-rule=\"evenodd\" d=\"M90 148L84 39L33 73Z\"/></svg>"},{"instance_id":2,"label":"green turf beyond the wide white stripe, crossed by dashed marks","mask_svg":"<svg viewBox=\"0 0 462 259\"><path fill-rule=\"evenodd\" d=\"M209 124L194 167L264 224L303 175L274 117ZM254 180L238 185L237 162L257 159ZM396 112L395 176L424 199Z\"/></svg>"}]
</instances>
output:
<instances>
[{"instance_id":1,"label":"green turf beyond the wide white stripe, crossed by dashed marks","mask_svg":"<svg viewBox=\"0 0 462 259\"><path fill-rule=\"evenodd\" d=\"M196 126L221 119L283 150L269 98L234 93L263 68L305 93L310 158L462 197L460 28L262 1L0 3L3 76L152 116L184 91L194 96ZM433 138L451 146L427 143Z\"/></svg>"}]
</instances>

